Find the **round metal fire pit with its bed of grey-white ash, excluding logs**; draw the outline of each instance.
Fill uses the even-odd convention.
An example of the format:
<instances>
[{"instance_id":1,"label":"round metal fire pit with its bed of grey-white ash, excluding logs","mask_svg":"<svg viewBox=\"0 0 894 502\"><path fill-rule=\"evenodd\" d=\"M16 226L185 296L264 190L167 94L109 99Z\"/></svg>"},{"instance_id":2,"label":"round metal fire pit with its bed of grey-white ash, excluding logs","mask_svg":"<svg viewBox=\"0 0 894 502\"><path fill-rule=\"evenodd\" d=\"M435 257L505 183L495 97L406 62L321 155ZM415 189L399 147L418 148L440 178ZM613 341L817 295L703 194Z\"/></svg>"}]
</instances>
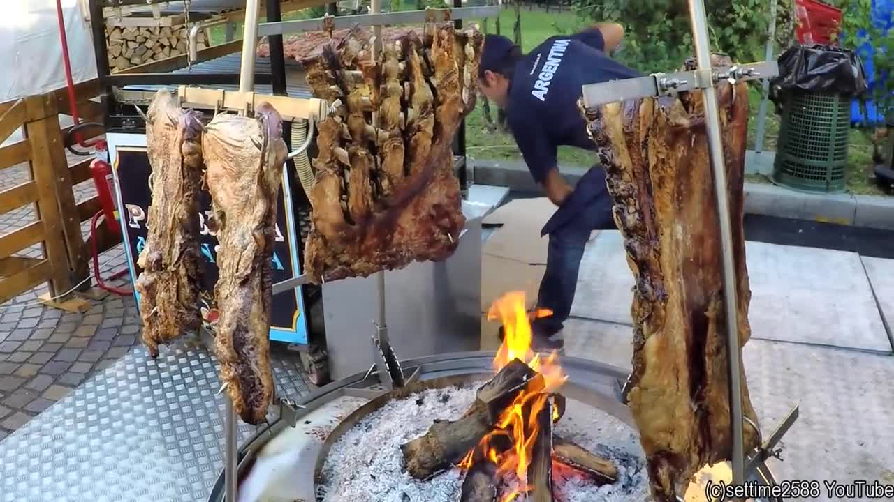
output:
<instances>
[{"instance_id":1,"label":"round metal fire pit with its bed of grey-white ash, excluding logs","mask_svg":"<svg viewBox=\"0 0 894 502\"><path fill-rule=\"evenodd\" d=\"M424 434L435 419L455 420L493 376L493 352L429 356L403 362L415 377L384 393L375 375L352 375L305 397L295 427L280 417L240 448L240 500L443 502L458 500L462 474L449 469L427 480L403 473L400 445ZM556 500L643 500L648 494L645 456L628 408L614 395L627 373L576 357L563 357L568 404L556 431L618 466L618 480L587 486L553 473ZM774 484L765 465L752 481ZM221 502L223 473L209 501ZM365 494L358 497L358 494Z\"/></svg>"}]
</instances>

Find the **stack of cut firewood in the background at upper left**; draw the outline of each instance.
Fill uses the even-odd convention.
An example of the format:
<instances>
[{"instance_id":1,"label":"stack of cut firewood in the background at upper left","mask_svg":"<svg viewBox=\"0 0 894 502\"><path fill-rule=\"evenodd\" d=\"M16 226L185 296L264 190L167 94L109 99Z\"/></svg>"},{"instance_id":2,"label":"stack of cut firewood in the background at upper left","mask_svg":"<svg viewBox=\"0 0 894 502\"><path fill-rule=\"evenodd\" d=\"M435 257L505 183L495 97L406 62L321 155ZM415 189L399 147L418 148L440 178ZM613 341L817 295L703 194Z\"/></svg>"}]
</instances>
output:
<instances>
[{"instance_id":1,"label":"stack of cut firewood in the background at upper left","mask_svg":"<svg viewBox=\"0 0 894 502\"><path fill-rule=\"evenodd\" d=\"M109 27L105 30L109 66L114 73L138 64L187 54L190 44L188 33L183 24L164 27ZM207 31L199 31L196 38L198 49L207 47L208 40Z\"/></svg>"}]
</instances>

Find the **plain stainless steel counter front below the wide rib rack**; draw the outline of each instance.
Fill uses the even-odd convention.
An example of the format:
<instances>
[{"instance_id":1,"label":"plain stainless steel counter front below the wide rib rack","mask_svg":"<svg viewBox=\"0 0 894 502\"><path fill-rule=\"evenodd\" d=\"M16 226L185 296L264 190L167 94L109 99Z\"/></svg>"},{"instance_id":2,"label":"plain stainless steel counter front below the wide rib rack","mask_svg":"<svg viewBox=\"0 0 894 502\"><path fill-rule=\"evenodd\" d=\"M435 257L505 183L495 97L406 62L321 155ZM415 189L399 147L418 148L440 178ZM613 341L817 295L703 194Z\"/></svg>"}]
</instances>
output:
<instances>
[{"instance_id":1,"label":"plain stainless steel counter front below the wide rib rack","mask_svg":"<svg viewBox=\"0 0 894 502\"><path fill-rule=\"evenodd\" d=\"M400 359L478 350L481 330L481 216L468 219L456 252L443 262L417 262L385 272L385 320ZM326 347L333 380L373 364L375 276L323 285Z\"/></svg>"}]
</instances>

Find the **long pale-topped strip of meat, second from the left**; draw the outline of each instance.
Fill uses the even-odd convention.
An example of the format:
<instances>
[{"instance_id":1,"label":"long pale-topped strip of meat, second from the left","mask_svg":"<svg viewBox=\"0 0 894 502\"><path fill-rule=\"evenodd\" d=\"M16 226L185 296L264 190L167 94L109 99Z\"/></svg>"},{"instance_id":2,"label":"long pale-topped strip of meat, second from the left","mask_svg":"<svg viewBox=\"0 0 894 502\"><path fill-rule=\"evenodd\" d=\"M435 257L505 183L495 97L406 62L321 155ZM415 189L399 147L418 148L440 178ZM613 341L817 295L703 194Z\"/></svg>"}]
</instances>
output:
<instances>
[{"instance_id":1,"label":"long pale-topped strip of meat, second from the left","mask_svg":"<svg viewBox=\"0 0 894 502\"><path fill-rule=\"evenodd\" d=\"M207 125L202 152L220 243L215 353L236 413L257 424L274 394L268 337L276 200L287 155L283 119L267 103L254 117L219 114Z\"/></svg>"}]
</instances>

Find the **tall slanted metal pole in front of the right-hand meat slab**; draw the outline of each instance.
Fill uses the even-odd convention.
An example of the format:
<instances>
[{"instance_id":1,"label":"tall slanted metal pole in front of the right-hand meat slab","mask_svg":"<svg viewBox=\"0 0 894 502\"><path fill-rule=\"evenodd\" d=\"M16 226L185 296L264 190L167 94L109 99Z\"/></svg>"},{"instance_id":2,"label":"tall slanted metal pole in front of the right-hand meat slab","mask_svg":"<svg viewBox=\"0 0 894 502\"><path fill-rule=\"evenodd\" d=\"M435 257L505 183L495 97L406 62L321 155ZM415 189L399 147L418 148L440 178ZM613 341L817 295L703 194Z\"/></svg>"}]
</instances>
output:
<instances>
[{"instance_id":1,"label":"tall slanted metal pole in front of the right-hand meat slab","mask_svg":"<svg viewBox=\"0 0 894 502\"><path fill-rule=\"evenodd\" d=\"M721 260L723 265L723 300L726 307L727 350L730 362L730 422L732 432L732 483L742 484L745 479L745 449L743 446L742 360L738 347L738 310L736 304L736 270L733 264L730 203L727 198L726 163L723 159L721 121L717 106L711 67L711 42L708 38L707 15L704 0L689 0L692 17L692 35L696 46L698 74L704 85L704 114L708 133L708 149L713 168L714 194L717 198L717 217L720 222Z\"/></svg>"}]
</instances>

